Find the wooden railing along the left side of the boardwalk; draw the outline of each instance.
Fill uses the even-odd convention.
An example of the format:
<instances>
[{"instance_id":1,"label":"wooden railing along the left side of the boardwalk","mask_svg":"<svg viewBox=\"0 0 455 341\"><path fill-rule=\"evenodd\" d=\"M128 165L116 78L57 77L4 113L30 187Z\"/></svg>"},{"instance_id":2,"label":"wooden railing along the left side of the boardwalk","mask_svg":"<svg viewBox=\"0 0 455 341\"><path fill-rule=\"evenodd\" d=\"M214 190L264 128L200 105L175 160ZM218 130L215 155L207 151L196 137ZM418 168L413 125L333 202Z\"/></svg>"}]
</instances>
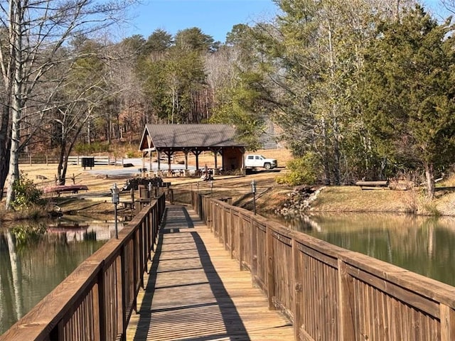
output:
<instances>
[{"instance_id":1,"label":"wooden railing along the left side of the boardwalk","mask_svg":"<svg viewBox=\"0 0 455 341\"><path fill-rule=\"evenodd\" d=\"M151 200L0 340L124 340L164 207L164 195Z\"/></svg>"}]
</instances>

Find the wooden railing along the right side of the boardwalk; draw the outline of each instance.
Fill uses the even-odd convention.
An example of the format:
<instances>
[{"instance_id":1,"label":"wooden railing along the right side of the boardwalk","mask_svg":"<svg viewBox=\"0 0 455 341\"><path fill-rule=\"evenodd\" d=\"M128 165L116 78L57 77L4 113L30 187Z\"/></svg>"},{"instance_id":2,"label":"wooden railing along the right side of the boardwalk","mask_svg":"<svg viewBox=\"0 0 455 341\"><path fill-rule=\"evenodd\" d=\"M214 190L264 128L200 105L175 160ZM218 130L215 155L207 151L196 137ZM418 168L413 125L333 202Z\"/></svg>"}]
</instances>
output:
<instances>
[{"instance_id":1,"label":"wooden railing along the right side of the boardwalk","mask_svg":"<svg viewBox=\"0 0 455 341\"><path fill-rule=\"evenodd\" d=\"M193 193L295 340L455 340L455 288Z\"/></svg>"}]
</instances>

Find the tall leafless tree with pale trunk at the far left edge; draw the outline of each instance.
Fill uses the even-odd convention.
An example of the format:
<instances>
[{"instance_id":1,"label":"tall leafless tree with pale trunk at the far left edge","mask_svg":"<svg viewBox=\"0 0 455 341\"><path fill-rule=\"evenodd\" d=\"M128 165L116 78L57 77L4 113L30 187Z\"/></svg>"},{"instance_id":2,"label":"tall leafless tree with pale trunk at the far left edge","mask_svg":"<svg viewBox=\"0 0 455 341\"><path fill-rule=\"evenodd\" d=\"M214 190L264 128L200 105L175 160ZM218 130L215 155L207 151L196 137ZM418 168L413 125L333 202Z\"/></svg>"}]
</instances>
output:
<instances>
[{"instance_id":1,"label":"tall leafless tree with pale trunk at the far left edge","mask_svg":"<svg viewBox=\"0 0 455 341\"><path fill-rule=\"evenodd\" d=\"M0 187L9 171L6 208L14 199L13 184L18 178L23 114L43 116L52 105L53 94L62 86L59 79L46 77L56 65L78 56L68 43L82 36L92 36L118 22L131 2L92 0L11 0L0 3L0 69L6 92L1 112L0 157L9 167L0 168ZM68 63L71 65L71 63ZM45 94L39 89L43 82ZM30 105L33 103L33 105ZM4 139L4 140L2 140ZM11 146L9 146L11 144Z\"/></svg>"}]
</instances>

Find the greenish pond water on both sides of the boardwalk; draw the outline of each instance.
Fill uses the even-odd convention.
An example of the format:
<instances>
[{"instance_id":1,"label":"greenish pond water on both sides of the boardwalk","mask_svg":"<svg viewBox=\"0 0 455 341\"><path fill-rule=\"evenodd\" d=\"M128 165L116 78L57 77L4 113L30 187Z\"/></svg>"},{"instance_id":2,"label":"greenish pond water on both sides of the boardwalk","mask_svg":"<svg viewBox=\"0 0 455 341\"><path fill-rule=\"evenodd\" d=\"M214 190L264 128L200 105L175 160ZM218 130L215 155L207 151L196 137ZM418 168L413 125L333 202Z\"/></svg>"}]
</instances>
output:
<instances>
[{"instance_id":1,"label":"greenish pond water on both sides of the boardwalk","mask_svg":"<svg viewBox=\"0 0 455 341\"><path fill-rule=\"evenodd\" d=\"M455 286L455 218L339 213L310 220L271 218ZM16 247L11 231L0 229L0 334L114 235L113 222L63 221L38 242Z\"/></svg>"}]
</instances>

